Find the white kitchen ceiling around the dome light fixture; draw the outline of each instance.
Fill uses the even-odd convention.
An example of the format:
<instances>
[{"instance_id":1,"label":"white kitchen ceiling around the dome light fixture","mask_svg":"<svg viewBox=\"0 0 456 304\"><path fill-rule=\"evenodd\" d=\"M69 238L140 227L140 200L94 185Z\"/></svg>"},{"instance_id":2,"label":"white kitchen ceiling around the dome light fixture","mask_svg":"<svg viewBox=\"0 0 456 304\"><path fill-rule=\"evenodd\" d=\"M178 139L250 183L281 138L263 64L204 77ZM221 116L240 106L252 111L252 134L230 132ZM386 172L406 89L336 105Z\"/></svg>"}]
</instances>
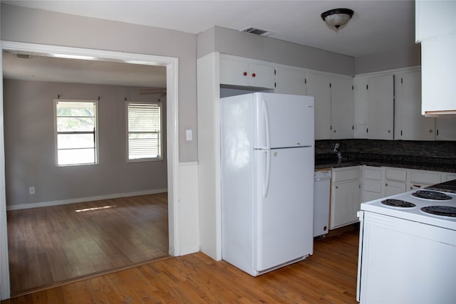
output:
<instances>
[{"instance_id":1,"label":"white kitchen ceiling around the dome light fixture","mask_svg":"<svg viewBox=\"0 0 456 304\"><path fill-rule=\"evenodd\" d=\"M195 34L212 26L238 31L247 27L261 28L274 32L271 38L355 58L415 44L415 1L2 2ZM341 7L353 9L354 15L346 26L336 31L321 20L321 13Z\"/></svg>"}]
</instances>

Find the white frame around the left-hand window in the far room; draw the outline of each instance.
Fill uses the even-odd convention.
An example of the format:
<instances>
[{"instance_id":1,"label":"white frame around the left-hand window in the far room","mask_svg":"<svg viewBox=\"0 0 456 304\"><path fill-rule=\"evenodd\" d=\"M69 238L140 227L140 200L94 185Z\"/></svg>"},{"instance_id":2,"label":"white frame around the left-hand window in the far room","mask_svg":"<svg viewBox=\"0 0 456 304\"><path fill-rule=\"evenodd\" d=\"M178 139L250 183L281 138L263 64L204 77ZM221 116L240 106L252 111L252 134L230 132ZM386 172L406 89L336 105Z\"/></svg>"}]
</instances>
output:
<instances>
[{"instance_id":1,"label":"white frame around the left-hand window in the far room","mask_svg":"<svg viewBox=\"0 0 456 304\"><path fill-rule=\"evenodd\" d=\"M58 163L58 127L57 127L57 103L93 103L95 104L95 115L93 116L95 119L94 127L95 130L93 131L93 136L95 137L94 140L94 157L95 157L95 162L84 162L84 163L74 163L74 164L59 164ZM99 145L98 145L98 100L86 100L86 99L54 99L53 103L53 108L54 108L54 137L55 137L55 161L56 161L56 167L73 167L73 166L92 166L95 164L100 164L100 157L99 157ZM83 133L88 133L88 132L81 132Z\"/></svg>"}]
</instances>

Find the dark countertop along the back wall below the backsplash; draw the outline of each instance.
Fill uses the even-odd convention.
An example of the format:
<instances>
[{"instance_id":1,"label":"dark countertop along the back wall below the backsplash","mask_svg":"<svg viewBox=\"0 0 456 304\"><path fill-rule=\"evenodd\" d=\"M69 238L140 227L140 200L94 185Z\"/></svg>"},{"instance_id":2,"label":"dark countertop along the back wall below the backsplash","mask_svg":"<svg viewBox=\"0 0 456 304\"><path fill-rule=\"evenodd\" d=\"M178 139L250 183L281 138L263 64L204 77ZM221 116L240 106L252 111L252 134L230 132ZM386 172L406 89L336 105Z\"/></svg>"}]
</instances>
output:
<instances>
[{"instance_id":1,"label":"dark countertop along the back wall below the backsplash","mask_svg":"<svg viewBox=\"0 0 456 304\"><path fill-rule=\"evenodd\" d=\"M350 167L363 164L375 167L456 172L456 159L440 157L346 153L346 156L343 156L340 162L335 157L335 154L316 154L315 157L315 169Z\"/></svg>"}]
</instances>

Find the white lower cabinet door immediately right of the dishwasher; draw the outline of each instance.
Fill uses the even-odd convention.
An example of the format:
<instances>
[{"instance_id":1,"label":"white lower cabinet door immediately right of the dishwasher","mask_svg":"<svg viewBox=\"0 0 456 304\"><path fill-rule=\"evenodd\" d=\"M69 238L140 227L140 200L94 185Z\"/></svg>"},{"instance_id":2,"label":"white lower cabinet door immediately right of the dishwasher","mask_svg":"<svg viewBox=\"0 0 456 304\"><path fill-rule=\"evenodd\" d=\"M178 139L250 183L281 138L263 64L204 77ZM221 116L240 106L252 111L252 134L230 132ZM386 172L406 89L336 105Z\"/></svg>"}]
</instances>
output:
<instances>
[{"instance_id":1,"label":"white lower cabinet door immediately right of the dishwasher","mask_svg":"<svg viewBox=\"0 0 456 304\"><path fill-rule=\"evenodd\" d=\"M331 216L329 229L358 222L360 209L360 168L334 168L331 184Z\"/></svg>"}]
</instances>

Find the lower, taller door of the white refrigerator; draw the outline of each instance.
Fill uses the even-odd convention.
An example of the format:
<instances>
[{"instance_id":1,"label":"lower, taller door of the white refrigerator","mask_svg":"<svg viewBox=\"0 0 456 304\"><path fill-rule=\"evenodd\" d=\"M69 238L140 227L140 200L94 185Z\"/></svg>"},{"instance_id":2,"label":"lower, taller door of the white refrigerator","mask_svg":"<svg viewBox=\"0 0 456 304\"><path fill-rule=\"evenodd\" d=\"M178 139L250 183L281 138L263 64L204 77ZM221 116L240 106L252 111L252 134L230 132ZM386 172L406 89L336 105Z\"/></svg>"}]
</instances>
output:
<instances>
[{"instance_id":1,"label":"lower, taller door of the white refrigerator","mask_svg":"<svg viewBox=\"0 0 456 304\"><path fill-rule=\"evenodd\" d=\"M268 268L314 250L314 148L256 150L254 268Z\"/></svg>"}]
</instances>

